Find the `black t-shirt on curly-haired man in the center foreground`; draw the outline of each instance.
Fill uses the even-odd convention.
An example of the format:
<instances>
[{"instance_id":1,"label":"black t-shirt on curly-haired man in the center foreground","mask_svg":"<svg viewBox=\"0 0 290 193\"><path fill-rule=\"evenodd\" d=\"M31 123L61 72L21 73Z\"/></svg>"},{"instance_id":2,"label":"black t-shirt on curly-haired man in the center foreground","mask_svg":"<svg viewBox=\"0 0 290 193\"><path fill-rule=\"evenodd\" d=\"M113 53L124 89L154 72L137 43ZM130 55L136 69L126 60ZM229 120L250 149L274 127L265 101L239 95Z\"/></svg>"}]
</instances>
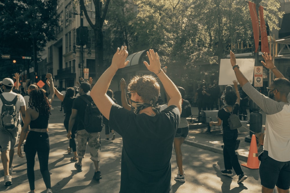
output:
<instances>
[{"instance_id":1,"label":"black t-shirt on curly-haired man in the center foreground","mask_svg":"<svg viewBox=\"0 0 290 193\"><path fill-rule=\"evenodd\" d=\"M109 126L123 138L120 192L169 192L171 155L180 121L176 106L154 117L113 104Z\"/></svg>"}]
</instances>

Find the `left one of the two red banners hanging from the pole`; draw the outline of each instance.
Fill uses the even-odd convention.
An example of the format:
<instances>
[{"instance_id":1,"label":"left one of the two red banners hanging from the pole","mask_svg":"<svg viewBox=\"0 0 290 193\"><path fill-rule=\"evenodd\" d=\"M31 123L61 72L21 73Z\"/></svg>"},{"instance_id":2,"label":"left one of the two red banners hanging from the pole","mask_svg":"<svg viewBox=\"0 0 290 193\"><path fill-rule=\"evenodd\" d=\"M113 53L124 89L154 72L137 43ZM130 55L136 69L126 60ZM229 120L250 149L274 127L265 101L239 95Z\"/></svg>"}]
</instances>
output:
<instances>
[{"instance_id":1,"label":"left one of the two red banners hanging from the pole","mask_svg":"<svg viewBox=\"0 0 290 193\"><path fill-rule=\"evenodd\" d=\"M259 47L259 19L256 12L256 4L249 1L249 9L250 9L250 15L252 20L252 26L253 26L253 33L254 33L254 41L255 41L255 52L258 51Z\"/></svg>"}]
</instances>

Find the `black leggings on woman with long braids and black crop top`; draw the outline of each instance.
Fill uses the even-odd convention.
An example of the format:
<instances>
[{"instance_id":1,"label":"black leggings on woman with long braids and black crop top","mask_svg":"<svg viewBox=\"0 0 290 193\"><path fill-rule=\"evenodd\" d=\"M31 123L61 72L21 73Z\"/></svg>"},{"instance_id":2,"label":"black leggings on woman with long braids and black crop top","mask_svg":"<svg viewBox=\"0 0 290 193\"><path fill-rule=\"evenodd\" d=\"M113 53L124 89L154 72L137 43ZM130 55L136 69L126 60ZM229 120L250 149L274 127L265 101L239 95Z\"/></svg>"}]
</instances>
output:
<instances>
[{"instance_id":1,"label":"black leggings on woman with long braids and black crop top","mask_svg":"<svg viewBox=\"0 0 290 193\"><path fill-rule=\"evenodd\" d=\"M26 143L24 145L24 152L26 154L27 177L30 190L35 190L34 163L36 152L39 159L40 172L45 186L46 188L51 188L50 174L48 171L49 150L50 147L48 133L36 131L30 131L28 133Z\"/></svg>"}]
</instances>

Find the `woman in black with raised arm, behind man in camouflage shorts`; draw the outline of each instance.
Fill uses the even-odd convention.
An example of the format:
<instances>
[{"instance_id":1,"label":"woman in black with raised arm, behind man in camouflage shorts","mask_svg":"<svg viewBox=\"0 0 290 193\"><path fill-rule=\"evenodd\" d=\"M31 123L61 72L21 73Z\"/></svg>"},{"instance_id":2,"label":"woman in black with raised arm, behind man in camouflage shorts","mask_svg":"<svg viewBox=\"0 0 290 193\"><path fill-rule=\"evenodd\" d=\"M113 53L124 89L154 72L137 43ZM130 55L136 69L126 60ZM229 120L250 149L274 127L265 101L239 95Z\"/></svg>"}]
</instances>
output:
<instances>
[{"instance_id":1,"label":"woman in black with raised arm, behind man in camouflage shorts","mask_svg":"<svg viewBox=\"0 0 290 193\"><path fill-rule=\"evenodd\" d=\"M64 112L66 113L66 116L64 118L64 127L66 128L66 131L68 132L68 122L70 120L70 115L72 114L72 106L73 101L75 100L75 89L73 87L68 87L66 89L66 94L61 94L56 88L55 89L55 95L59 100L63 102L64 106ZM75 123L72 129L72 135L70 138L69 146L67 147L68 154L70 155L71 150L73 150L74 156L70 158L70 161L77 161L77 148L75 144L75 132L77 130L77 124Z\"/></svg>"}]
</instances>

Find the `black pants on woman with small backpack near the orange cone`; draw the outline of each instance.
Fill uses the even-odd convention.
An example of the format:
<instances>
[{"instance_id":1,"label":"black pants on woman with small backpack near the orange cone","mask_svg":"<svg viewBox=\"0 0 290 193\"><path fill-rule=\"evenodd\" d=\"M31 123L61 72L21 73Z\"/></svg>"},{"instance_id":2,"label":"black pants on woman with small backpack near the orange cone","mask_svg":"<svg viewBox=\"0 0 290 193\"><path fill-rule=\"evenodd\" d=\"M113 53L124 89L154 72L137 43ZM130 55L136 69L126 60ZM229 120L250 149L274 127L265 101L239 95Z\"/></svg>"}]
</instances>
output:
<instances>
[{"instance_id":1,"label":"black pants on woman with small backpack near the orange cone","mask_svg":"<svg viewBox=\"0 0 290 193\"><path fill-rule=\"evenodd\" d=\"M235 144L238 138L238 130L224 130L222 140L224 142L224 167L226 170L234 169L237 175L244 174L240 166L238 156L235 153Z\"/></svg>"}]
</instances>

